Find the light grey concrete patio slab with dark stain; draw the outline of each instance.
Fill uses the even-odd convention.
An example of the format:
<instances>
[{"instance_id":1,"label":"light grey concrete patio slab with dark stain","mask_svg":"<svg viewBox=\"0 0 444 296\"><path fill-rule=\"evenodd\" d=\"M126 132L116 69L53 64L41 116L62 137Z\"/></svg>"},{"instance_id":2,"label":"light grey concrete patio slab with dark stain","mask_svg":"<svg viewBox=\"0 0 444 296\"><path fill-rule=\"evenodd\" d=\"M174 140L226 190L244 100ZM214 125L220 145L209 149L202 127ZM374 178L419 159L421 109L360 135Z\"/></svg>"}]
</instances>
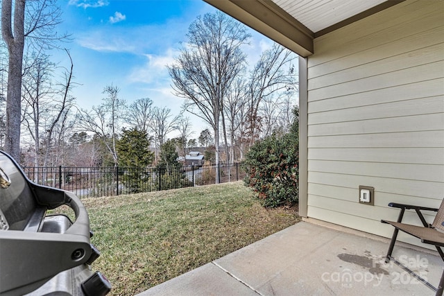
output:
<instances>
[{"instance_id":1,"label":"light grey concrete patio slab with dark stain","mask_svg":"<svg viewBox=\"0 0 444 296\"><path fill-rule=\"evenodd\" d=\"M387 248L386 238L300 222L139 295L435 294L384 263ZM437 252L397 243L393 255L438 284L444 264Z\"/></svg>"}]
</instances>

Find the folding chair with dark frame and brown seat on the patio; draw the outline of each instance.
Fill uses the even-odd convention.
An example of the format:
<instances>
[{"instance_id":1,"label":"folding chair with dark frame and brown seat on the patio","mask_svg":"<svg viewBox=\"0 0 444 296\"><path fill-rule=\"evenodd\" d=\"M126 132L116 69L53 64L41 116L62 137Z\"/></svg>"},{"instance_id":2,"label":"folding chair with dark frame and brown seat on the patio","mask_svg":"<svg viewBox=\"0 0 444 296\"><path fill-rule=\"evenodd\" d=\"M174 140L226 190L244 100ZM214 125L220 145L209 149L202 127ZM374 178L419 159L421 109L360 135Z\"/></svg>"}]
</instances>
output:
<instances>
[{"instance_id":1,"label":"folding chair with dark frame and brown seat on the patio","mask_svg":"<svg viewBox=\"0 0 444 296\"><path fill-rule=\"evenodd\" d=\"M413 277L416 277L419 281L421 281L423 284L431 288L436 292L436 295L443 295L444 290L444 271L441 275L441 280L439 281L438 288L435 288L432 284L430 284L428 281L417 275L415 272L407 268L407 266L400 263L400 261L396 260L391 256L391 253L393 252L393 247L395 246L395 241L398 236L398 232L401 230L402 232L405 232L407 234L410 234L412 236L415 236L421 240L422 243L427 243L429 245L434 245L436 247L436 250L438 250L439 255L441 256L441 259L444 261L444 253L443 250L441 250L441 247L444 247L444 200L441 202L441 206L439 209L429 208L429 207L418 207L411 204L398 204L395 202L391 202L388 204L388 207L395 207L400 209L400 215L398 217L397 222L388 221L388 220L381 220L382 223L387 223L395 227L395 231L393 232L393 236L391 238L390 245L388 247L388 252L386 256L386 263L388 261L393 261L397 265L399 265L402 269L409 272L410 275ZM414 209L416 211L416 214L418 214L418 217L420 218L423 226L416 226L416 225L409 225L402 223L402 217L404 216L404 211L406 209ZM436 211L436 216L434 219L434 222L432 224L427 224L427 221L425 220L424 216L422 216L421 211Z\"/></svg>"}]
</instances>

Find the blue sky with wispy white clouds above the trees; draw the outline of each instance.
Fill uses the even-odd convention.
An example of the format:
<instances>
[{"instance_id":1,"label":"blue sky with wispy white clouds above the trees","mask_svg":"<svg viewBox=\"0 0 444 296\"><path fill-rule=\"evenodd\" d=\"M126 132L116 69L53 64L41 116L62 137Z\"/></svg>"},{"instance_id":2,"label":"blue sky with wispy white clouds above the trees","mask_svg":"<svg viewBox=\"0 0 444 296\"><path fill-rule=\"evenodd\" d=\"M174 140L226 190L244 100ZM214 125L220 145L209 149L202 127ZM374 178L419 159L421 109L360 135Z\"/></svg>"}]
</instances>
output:
<instances>
[{"instance_id":1,"label":"blue sky with wispy white clouds above the trees","mask_svg":"<svg viewBox=\"0 0 444 296\"><path fill-rule=\"evenodd\" d=\"M176 115L183 98L172 94L166 68L185 42L189 24L198 15L216 9L203 0L59 0L63 23L60 30L71 34L65 44L74 61L72 93L79 107L99 105L103 87L117 85L119 97L131 103L151 98L158 107L169 107ZM244 51L250 64L271 46L271 41L251 31L251 44ZM62 64L63 53L57 54ZM63 61L63 59L65 61ZM202 121L187 114L197 138L205 129Z\"/></svg>"}]
</instances>

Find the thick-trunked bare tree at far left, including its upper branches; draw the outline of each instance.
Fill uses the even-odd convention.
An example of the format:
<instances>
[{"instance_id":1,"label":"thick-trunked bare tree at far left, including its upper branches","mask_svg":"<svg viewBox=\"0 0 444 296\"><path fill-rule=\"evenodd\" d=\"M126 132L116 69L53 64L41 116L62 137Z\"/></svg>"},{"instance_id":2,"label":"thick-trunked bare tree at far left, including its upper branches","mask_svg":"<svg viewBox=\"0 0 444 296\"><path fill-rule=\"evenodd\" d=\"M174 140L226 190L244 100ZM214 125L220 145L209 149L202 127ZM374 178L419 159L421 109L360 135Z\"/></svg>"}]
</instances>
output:
<instances>
[{"instance_id":1,"label":"thick-trunked bare tree at far left, including its upper branches","mask_svg":"<svg viewBox=\"0 0 444 296\"><path fill-rule=\"evenodd\" d=\"M12 8L14 12L12 13ZM20 157L20 114L22 98L22 66L26 39L39 50L51 48L60 36L54 28L60 23L56 0L3 0L1 3L1 35L8 47L8 91L6 94L5 150L17 161Z\"/></svg>"}]
</instances>

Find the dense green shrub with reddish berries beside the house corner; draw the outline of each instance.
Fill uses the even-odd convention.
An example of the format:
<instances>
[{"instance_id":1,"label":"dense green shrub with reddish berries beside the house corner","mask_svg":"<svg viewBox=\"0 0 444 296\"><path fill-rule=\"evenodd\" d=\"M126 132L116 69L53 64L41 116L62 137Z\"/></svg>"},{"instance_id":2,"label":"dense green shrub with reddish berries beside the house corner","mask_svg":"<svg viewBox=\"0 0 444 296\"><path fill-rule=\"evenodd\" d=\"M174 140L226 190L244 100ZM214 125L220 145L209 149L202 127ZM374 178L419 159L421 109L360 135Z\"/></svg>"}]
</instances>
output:
<instances>
[{"instance_id":1,"label":"dense green shrub with reddish berries beside the house corner","mask_svg":"<svg viewBox=\"0 0 444 296\"><path fill-rule=\"evenodd\" d=\"M246 154L244 182L253 187L265 207L298 201L298 109L289 133L257 141Z\"/></svg>"}]
</instances>

